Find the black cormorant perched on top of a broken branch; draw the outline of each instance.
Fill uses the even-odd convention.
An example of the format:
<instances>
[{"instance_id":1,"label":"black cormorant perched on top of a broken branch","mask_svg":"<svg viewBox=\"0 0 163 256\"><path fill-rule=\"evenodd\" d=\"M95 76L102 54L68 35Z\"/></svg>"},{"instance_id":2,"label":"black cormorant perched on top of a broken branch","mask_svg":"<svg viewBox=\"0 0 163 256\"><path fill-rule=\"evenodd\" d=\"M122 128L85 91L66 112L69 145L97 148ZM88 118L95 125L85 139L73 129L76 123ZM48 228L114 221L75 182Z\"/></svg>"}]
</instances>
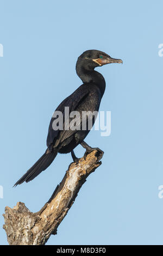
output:
<instances>
[{"instance_id":1,"label":"black cormorant perched on top of a broken branch","mask_svg":"<svg viewBox=\"0 0 163 256\"><path fill-rule=\"evenodd\" d=\"M78 111L81 115L78 119L78 126L82 127L82 112L83 111L98 111L102 96L105 92L105 80L104 77L94 69L97 66L103 66L109 63L122 63L121 59L111 58L108 54L97 51L88 50L79 56L76 64L77 75L81 78L83 84L77 90L68 96L64 101L60 103L55 111L60 111L65 117L65 107L69 107L69 112ZM55 114L55 112L54 112ZM84 142L85 137L90 132L90 128L86 126L85 130L77 129L65 129L65 121L63 129L53 129L53 121L57 117L53 117L49 124L48 136L47 136L47 150L40 157L40 159L20 178L14 186L22 184L22 182L33 180L43 170L45 170L55 159L58 153L70 153L73 161L78 162L77 157L74 155L73 149L81 144L87 153L92 150L102 150L98 148L91 148ZM69 119L71 121L72 118ZM92 120L92 125L95 122L95 118ZM70 123L70 122L69 122Z\"/></svg>"}]
</instances>

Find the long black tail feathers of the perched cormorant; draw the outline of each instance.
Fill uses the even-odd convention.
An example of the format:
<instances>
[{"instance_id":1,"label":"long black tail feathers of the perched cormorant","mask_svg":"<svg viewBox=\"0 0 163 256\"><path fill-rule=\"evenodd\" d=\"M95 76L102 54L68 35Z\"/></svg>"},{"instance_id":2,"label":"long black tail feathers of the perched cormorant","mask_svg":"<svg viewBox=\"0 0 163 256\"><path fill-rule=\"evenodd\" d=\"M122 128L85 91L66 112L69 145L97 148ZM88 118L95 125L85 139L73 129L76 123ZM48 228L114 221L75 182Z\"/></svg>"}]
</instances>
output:
<instances>
[{"instance_id":1,"label":"long black tail feathers of the perched cormorant","mask_svg":"<svg viewBox=\"0 0 163 256\"><path fill-rule=\"evenodd\" d=\"M43 170L45 170L55 159L57 156L58 151L50 152L48 149L45 153L40 157L39 160L29 169L27 173L25 173L16 183L14 186L18 184L22 184L24 181L29 182L33 180L37 175L39 175Z\"/></svg>"}]
</instances>

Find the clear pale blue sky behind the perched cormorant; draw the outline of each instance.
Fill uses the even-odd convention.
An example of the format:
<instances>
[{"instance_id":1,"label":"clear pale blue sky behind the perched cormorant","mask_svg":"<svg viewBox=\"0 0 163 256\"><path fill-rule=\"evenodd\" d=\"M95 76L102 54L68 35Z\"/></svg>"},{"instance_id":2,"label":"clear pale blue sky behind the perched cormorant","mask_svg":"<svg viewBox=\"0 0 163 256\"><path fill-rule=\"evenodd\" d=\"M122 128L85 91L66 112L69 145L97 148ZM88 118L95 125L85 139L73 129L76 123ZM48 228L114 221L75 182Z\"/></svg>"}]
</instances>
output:
<instances>
[{"instance_id":1,"label":"clear pale blue sky behind the perched cormorant","mask_svg":"<svg viewBox=\"0 0 163 256\"><path fill-rule=\"evenodd\" d=\"M8 244L4 207L21 201L39 210L72 162L70 154L58 155L32 182L12 188L44 153L52 113L82 84L76 61L89 49L123 59L97 68L111 134L92 131L85 139L104 150L102 166L47 245L162 245L162 8L161 0L1 0L1 245ZM79 145L75 153L84 150Z\"/></svg>"}]
</instances>

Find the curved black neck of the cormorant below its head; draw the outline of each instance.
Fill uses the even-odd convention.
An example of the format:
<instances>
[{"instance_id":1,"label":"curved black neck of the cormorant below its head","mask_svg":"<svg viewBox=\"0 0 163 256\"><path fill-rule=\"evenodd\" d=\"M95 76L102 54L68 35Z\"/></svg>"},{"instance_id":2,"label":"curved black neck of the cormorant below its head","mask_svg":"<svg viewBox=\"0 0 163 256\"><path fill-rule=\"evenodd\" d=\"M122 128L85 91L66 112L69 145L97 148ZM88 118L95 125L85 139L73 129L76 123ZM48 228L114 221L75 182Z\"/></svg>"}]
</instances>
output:
<instances>
[{"instance_id":1,"label":"curved black neck of the cormorant below its head","mask_svg":"<svg viewBox=\"0 0 163 256\"><path fill-rule=\"evenodd\" d=\"M105 92L105 79L99 72L94 69L85 69L82 66L76 67L77 75L83 81L83 83L95 83L96 86L100 89L101 95L103 96Z\"/></svg>"}]
</instances>

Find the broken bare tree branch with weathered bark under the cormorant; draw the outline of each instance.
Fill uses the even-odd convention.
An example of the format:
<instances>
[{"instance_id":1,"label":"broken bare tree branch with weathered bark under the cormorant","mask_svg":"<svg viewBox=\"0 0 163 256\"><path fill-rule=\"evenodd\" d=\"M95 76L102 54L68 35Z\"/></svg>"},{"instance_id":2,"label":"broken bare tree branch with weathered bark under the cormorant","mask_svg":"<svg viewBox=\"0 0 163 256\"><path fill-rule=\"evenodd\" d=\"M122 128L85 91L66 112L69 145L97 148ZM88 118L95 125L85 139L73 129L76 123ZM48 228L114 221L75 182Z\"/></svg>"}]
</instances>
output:
<instances>
[{"instance_id":1,"label":"broken bare tree branch with weathered bark under the cormorant","mask_svg":"<svg viewBox=\"0 0 163 256\"><path fill-rule=\"evenodd\" d=\"M24 203L18 202L13 209L5 207L3 228L9 245L45 245L49 237L57 234L57 228L71 208L87 176L101 165L103 154L92 151L71 163L51 198L38 212L30 212Z\"/></svg>"}]
</instances>

